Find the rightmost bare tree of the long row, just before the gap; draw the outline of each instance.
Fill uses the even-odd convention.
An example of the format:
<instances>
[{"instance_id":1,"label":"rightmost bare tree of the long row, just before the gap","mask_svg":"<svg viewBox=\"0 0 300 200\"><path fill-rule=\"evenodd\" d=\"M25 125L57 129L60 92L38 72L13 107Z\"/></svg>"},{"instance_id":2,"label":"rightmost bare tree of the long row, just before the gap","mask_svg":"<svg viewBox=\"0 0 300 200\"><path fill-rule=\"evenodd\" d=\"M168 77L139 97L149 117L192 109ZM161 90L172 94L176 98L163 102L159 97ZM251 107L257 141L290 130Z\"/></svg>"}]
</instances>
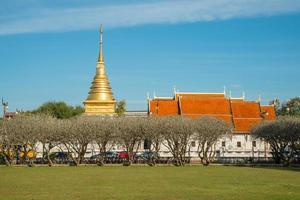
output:
<instances>
[{"instance_id":1,"label":"rightmost bare tree of the long row, just before the gap","mask_svg":"<svg viewBox=\"0 0 300 200\"><path fill-rule=\"evenodd\" d=\"M198 155L201 163L209 165L215 157L215 145L224 135L231 133L231 127L214 117L201 117L194 121L194 137L198 143Z\"/></svg>"}]
</instances>

